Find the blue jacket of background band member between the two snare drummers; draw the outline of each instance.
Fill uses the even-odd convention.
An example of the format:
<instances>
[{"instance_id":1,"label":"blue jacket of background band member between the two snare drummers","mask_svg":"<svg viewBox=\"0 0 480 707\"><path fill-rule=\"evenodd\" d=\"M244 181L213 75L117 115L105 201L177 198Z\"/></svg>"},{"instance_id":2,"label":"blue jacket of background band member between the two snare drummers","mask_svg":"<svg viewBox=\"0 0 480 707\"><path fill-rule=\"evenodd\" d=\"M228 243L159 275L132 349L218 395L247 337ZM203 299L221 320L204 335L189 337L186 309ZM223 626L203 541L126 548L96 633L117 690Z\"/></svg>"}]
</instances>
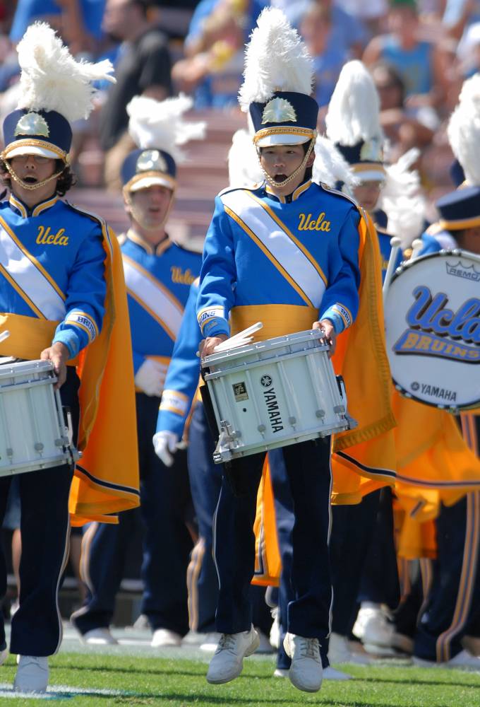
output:
<instances>
[{"instance_id":1,"label":"blue jacket of background band member between the two snare drummers","mask_svg":"<svg viewBox=\"0 0 480 707\"><path fill-rule=\"evenodd\" d=\"M168 365L201 255L167 239L154 249L132 230L120 237L131 322L133 368L145 358Z\"/></svg>"}]
</instances>

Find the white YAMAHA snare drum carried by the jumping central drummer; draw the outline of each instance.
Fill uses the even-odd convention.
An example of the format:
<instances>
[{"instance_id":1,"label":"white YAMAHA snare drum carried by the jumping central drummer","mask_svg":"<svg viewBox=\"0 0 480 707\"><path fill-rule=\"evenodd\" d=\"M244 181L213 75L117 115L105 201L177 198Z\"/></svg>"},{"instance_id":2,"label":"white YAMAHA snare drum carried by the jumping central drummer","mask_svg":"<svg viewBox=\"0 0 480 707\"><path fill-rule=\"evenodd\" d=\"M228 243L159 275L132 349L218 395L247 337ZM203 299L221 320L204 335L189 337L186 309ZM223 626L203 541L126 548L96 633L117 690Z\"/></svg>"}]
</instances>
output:
<instances>
[{"instance_id":1,"label":"white YAMAHA snare drum carried by the jumping central drummer","mask_svg":"<svg viewBox=\"0 0 480 707\"><path fill-rule=\"evenodd\" d=\"M217 464L355 425L322 336L299 332L203 359L220 433Z\"/></svg>"}]
</instances>

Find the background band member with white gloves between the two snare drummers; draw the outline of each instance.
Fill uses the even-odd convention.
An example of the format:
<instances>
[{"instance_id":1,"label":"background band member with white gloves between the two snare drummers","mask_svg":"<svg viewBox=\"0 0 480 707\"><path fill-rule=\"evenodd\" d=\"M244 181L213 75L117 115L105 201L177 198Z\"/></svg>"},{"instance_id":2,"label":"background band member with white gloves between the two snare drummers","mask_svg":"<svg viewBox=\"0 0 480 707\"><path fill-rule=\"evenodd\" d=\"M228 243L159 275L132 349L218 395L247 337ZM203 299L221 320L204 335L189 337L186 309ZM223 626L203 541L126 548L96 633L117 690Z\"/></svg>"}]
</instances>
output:
<instances>
[{"instance_id":1,"label":"background band member with white gloves between the two snare drummers","mask_svg":"<svg viewBox=\"0 0 480 707\"><path fill-rule=\"evenodd\" d=\"M188 631L186 570L193 542L186 524L191 507L186 452L178 450L174 468L168 469L155 455L152 436L174 342L201 264L198 252L181 247L165 230L175 198L176 165L185 158L179 145L205 132L204 123L184 120L190 107L186 96L133 98L127 106L128 130L138 148L121 169L131 221L119 240L136 383L145 585L141 610L155 648L180 645ZM82 575L88 578L88 595L71 617L85 643L116 643L109 624L138 513L122 513L119 525L92 523L85 530Z\"/></svg>"}]
</instances>

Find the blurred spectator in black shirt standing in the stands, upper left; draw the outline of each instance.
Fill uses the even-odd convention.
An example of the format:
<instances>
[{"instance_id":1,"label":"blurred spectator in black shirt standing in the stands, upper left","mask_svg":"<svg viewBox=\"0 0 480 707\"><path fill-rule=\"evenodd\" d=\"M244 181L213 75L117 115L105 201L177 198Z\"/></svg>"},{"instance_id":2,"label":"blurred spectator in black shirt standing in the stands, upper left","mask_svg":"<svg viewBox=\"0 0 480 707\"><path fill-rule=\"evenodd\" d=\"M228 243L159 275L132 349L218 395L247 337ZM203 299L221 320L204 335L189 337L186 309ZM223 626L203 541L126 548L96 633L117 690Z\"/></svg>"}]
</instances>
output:
<instances>
[{"instance_id":1,"label":"blurred spectator in black shirt standing in the stands, upper left","mask_svg":"<svg viewBox=\"0 0 480 707\"><path fill-rule=\"evenodd\" d=\"M126 105L134 95L163 100L172 95L171 62L167 40L148 20L153 0L107 0L104 31L123 42L115 66L116 84L107 94L100 115L100 144L105 155L105 181L120 187L124 158L133 149L126 132Z\"/></svg>"}]
</instances>

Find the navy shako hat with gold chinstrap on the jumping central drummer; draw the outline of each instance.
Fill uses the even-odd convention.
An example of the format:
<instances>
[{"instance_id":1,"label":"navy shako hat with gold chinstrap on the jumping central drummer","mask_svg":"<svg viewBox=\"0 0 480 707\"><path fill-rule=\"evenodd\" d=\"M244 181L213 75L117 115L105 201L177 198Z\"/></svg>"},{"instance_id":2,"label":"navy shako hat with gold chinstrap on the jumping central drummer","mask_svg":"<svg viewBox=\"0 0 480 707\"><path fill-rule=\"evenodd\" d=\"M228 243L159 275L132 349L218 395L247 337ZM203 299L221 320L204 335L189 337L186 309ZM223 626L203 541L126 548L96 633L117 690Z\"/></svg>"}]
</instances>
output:
<instances>
[{"instance_id":1,"label":"navy shako hat with gold chinstrap on the jumping central drummer","mask_svg":"<svg viewBox=\"0 0 480 707\"><path fill-rule=\"evenodd\" d=\"M257 147L299 145L316 138L318 103L305 93L275 91L266 103L253 102L248 110Z\"/></svg>"}]
</instances>

